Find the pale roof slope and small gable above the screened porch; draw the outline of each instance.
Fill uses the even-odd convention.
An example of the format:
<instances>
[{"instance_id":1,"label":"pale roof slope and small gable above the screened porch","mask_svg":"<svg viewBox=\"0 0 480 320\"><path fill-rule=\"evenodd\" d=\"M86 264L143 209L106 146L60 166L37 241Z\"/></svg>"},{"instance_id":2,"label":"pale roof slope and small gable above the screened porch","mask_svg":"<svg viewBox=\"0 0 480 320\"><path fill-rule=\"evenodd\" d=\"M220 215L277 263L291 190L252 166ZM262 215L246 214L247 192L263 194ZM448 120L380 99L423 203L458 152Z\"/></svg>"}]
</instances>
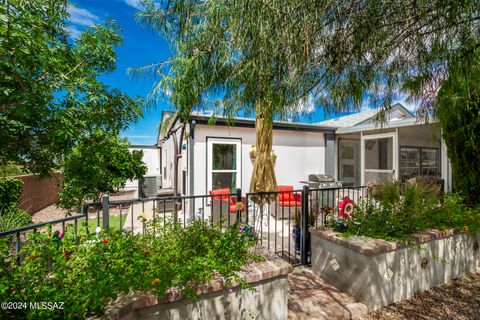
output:
<instances>
[{"instance_id":1,"label":"pale roof slope and small gable above the screened porch","mask_svg":"<svg viewBox=\"0 0 480 320\"><path fill-rule=\"evenodd\" d=\"M350 114L348 116L318 122L316 124L335 128L351 128L365 123L374 122L374 117L379 111L380 109L368 109L365 111ZM407 118L415 117L400 103L396 103L392 106L389 121L399 121Z\"/></svg>"}]
</instances>

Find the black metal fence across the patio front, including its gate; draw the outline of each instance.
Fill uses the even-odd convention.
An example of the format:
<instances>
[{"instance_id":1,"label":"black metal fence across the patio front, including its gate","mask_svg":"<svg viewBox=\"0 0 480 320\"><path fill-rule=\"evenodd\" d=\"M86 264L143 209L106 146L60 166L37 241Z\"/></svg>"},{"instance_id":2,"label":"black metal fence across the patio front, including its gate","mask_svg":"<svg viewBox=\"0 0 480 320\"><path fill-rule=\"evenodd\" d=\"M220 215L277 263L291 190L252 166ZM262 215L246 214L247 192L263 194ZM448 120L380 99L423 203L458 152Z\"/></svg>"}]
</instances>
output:
<instances>
[{"instance_id":1,"label":"black metal fence across the patio front, including its gate","mask_svg":"<svg viewBox=\"0 0 480 320\"><path fill-rule=\"evenodd\" d=\"M89 235L97 227L104 230L145 233L146 221L163 219L187 227L192 221L229 228L236 223L254 226L259 244L274 251L292 265L310 263L309 227L325 226L326 220L348 214L345 207L365 197L364 187L280 190L274 192L242 192L198 196L167 196L111 200L85 203L80 214L0 232L0 238L12 237L18 253L28 232L72 232Z\"/></svg>"}]
</instances>

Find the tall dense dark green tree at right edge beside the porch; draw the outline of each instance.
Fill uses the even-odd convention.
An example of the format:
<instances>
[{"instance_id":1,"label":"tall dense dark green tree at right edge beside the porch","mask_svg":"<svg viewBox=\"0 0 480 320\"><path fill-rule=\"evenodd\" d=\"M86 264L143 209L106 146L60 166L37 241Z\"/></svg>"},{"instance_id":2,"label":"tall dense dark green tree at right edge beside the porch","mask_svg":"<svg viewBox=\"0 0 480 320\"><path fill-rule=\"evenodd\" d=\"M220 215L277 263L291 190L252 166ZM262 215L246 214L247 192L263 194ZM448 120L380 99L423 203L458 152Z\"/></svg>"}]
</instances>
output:
<instances>
[{"instance_id":1,"label":"tall dense dark green tree at right edge beside the porch","mask_svg":"<svg viewBox=\"0 0 480 320\"><path fill-rule=\"evenodd\" d=\"M469 204L480 204L480 42L465 47L438 93L436 116L453 181Z\"/></svg>"}]
</instances>

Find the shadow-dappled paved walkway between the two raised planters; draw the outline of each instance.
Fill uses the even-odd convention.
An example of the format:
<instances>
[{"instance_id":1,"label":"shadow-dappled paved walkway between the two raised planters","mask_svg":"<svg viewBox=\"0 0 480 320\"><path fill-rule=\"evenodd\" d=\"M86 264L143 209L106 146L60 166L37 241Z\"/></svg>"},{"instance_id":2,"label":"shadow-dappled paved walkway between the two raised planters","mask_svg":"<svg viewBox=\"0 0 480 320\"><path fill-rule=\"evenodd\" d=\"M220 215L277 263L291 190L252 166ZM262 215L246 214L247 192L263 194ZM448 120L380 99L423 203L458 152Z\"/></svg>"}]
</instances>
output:
<instances>
[{"instance_id":1,"label":"shadow-dappled paved walkway between the two raised planters","mask_svg":"<svg viewBox=\"0 0 480 320\"><path fill-rule=\"evenodd\" d=\"M367 307L325 282L310 268L296 267L288 276L288 319L356 319Z\"/></svg>"}]
</instances>

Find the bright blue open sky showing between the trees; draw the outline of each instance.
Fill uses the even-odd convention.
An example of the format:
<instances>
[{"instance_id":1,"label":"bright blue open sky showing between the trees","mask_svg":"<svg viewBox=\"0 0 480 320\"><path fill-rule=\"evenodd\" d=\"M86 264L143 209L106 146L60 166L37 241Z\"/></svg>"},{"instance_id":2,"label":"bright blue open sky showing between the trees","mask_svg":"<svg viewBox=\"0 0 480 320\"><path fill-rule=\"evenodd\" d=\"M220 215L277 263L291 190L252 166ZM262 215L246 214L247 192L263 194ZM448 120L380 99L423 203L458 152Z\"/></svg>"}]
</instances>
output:
<instances>
[{"instance_id":1,"label":"bright blue open sky showing between the trees","mask_svg":"<svg viewBox=\"0 0 480 320\"><path fill-rule=\"evenodd\" d=\"M146 97L153 80L131 79L127 69L161 62L169 57L170 50L161 36L153 34L135 21L135 13L139 8L140 0L77 0L69 6L71 17L68 29L70 35L76 37L94 23L104 23L106 18L114 19L123 30L124 44L117 48L117 70L102 76L101 80L131 96ZM325 117L321 108L313 108L311 104L306 108L312 112L308 117L302 118L304 122L331 118L328 115ZM159 102L154 110L145 110L143 119L132 123L123 135L132 144L155 144L162 110L171 109L168 103Z\"/></svg>"}]
</instances>

